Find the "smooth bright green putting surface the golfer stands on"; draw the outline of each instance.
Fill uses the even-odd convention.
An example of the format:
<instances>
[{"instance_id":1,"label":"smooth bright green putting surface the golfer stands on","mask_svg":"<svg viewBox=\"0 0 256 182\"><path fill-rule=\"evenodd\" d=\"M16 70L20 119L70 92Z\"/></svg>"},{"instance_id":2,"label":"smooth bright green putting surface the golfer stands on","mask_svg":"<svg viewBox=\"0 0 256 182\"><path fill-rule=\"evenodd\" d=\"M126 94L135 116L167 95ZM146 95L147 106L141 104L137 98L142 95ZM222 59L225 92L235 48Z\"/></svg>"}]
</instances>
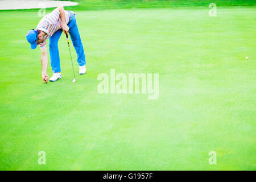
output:
<instances>
[{"instance_id":1,"label":"smooth bright green putting surface the golfer stands on","mask_svg":"<svg viewBox=\"0 0 256 182\"><path fill-rule=\"evenodd\" d=\"M86 75L76 64L72 83L62 35L63 78L43 84L40 49L25 38L37 11L1 12L0 169L256 169L254 7L214 18L208 7L76 13ZM110 68L159 73L158 100L99 94L97 76Z\"/></svg>"}]
</instances>

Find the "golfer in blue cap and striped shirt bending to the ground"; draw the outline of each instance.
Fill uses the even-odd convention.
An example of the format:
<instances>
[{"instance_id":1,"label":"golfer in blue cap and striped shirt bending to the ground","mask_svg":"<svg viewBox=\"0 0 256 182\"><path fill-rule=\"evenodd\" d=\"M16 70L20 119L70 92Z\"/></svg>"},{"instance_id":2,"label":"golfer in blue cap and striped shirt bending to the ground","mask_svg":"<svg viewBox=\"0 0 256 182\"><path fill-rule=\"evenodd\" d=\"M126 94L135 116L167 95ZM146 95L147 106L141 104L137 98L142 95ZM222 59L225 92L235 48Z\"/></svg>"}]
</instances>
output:
<instances>
[{"instance_id":1,"label":"golfer in blue cap and striped shirt bending to the ground","mask_svg":"<svg viewBox=\"0 0 256 182\"><path fill-rule=\"evenodd\" d=\"M40 20L36 29L32 29L27 33L27 41L31 44L31 49L35 49L37 45L41 48L42 63L42 79L44 82L56 81L61 78L60 55L58 49L58 41L60 35L64 31L71 36L73 46L77 53L77 62L79 64L79 73L82 75L86 72L84 47L82 46L79 30L76 24L75 13L72 11L64 11L62 6L57 7L52 13L47 14ZM46 40L49 38L49 54L51 58L51 67L53 75L51 78L47 75L48 55L46 48Z\"/></svg>"}]
</instances>

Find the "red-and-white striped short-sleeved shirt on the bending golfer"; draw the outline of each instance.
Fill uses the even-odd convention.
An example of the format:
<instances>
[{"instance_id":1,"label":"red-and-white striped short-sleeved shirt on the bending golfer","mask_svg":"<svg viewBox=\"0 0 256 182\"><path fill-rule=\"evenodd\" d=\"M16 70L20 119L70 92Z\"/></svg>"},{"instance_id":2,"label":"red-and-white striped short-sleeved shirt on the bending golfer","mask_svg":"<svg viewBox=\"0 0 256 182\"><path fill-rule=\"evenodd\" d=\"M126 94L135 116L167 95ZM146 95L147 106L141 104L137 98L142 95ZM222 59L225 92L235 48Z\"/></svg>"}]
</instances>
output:
<instances>
[{"instance_id":1,"label":"red-and-white striped short-sleeved shirt on the bending golfer","mask_svg":"<svg viewBox=\"0 0 256 182\"><path fill-rule=\"evenodd\" d=\"M69 12L65 12L65 20L68 24L69 21ZM62 27L61 19L60 19L60 12L56 9L52 11L52 13L47 14L44 16L40 22L38 23L38 26L36 27L36 30L42 30L46 32L46 36L44 36L44 42L40 43L39 46L41 49L46 47L46 40L52 36L57 30L59 30Z\"/></svg>"}]
</instances>

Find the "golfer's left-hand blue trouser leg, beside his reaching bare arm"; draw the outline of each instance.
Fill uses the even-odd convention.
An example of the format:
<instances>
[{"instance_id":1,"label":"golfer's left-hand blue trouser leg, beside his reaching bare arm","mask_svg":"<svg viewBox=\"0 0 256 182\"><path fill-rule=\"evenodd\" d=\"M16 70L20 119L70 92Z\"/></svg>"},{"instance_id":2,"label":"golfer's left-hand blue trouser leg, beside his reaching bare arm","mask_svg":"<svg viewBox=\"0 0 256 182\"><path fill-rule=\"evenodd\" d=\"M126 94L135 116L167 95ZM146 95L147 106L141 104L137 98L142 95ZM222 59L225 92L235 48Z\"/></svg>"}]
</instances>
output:
<instances>
[{"instance_id":1,"label":"golfer's left-hand blue trouser leg, beside his reaching bare arm","mask_svg":"<svg viewBox=\"0 0 256 182\"><path fill-rule=\"evenodd\" d=\"M51 57L51 67L52 72L57 73L60 72L60 55L58 42L60 39L60 35L62 33L62 29L57 30L50 38L49 38L49 53Z\"/></svg>"}]
</instances>

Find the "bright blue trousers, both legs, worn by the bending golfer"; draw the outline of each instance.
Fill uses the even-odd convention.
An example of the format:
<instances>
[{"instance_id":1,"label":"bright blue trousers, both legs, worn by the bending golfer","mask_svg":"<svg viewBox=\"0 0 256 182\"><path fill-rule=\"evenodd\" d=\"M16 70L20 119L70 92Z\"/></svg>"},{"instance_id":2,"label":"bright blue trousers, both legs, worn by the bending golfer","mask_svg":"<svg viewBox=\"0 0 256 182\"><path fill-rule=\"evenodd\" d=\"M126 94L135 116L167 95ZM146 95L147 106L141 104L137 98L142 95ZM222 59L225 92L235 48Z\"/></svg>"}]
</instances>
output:
<instances>
[{"instance_id":1,"label":"bright blue trousers, both legs, worn by the bending golfer","mask_svg":"<svg viewBox=\"0 0 256 182\"><path fill-rule=\"evenodd\" d=\"M69 19L71 19L71 20L69 20L69 23L68 23L69 35L71 36L73 46L76 49L77 63L80 66L83 66L86 64L85 55L84 55L84 47L82 46L82 41L80 38L79 30L77 28L75 15L73 13L70 13L70 14L71 14L71 18L69 18ZM60 30L57 30L49 38L49 53L50 53L51 67L52 67L53 73L61 71L58 42L59 42L60 35L62 34L62 32L63 32L63 30L61 28Z\"/></svg>"}]
</instances>

